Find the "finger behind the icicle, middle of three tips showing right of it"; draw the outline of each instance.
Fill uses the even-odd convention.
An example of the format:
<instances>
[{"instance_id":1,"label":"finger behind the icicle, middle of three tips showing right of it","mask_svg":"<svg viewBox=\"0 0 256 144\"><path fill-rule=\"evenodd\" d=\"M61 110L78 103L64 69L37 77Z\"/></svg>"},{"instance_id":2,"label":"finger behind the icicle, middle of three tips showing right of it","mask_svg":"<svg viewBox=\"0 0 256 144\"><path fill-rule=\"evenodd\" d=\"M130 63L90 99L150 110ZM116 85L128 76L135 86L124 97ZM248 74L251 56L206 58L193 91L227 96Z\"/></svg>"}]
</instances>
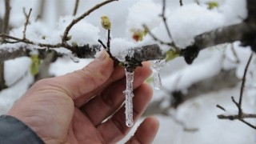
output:
<instances>
[{"instance_id":1,"label":"finger behind the icicle, middle of three tips showing right of it","mask_svg":"<svg viewBox=\"0 0 256 144\"><path fill-rule=\"evenodd\" d=\"M147 84L142 84L134 91L134 122L142 115L152 98L152 89ZM112 118L98 126L98 131L106 143L114 143L123 138L130 127L126 126L125 107L122 106Z\"/></svg>"}]
</instances>

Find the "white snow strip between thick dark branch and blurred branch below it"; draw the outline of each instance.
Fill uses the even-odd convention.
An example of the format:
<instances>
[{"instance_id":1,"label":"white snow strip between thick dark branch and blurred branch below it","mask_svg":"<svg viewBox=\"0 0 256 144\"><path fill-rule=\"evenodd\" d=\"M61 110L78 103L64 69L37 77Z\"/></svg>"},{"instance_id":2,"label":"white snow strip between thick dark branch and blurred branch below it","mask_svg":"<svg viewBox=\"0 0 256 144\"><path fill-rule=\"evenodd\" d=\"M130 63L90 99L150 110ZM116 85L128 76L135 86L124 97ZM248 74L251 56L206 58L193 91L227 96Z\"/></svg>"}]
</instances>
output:
<instances>
[{"instance_id":1,"label":"white snow strip between thick dark branch and blurred branch below it","mask_svg":"<svg viewBox=\"0 0 256 144\"><path fill-rule=\"evenodd\" d=\"M200 55L206 53L202 51ZM162 85L168 86L168 90L182 90L191 86L195 82L200 82L203 79L213 77L222 70L222 54L219 51L210 51L210 57L203 62L194 63L191 66L186 66L182 70L176 70L174 74L166 78L162 78Z\"/></svg>"}]
</instances>

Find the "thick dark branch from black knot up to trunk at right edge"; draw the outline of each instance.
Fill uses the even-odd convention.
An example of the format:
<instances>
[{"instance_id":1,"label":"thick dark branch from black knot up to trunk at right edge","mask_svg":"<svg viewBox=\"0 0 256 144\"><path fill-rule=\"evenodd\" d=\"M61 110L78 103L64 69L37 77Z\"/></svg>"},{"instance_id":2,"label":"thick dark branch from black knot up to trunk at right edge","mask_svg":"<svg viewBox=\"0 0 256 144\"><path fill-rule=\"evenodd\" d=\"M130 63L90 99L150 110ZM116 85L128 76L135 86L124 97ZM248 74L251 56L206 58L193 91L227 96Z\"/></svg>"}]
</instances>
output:
<instances>
[{"instance_id":1,"label":"thick dark branch from black knot up to trunk at right edge","mask_svg":"<svg viewBox=\"0 0 256 144\"><path fill-rule=\"evenodd\" d=\"M243 46L250 45L251 35L256 35L256 27L246 22L242 22L233 26L225 26L217 30L200 34L194 38L194 44L187 46L181 51L187 63L192 63L194 58L198 56L198 52L210 46L216 46L223 43L231 43L241 41ZM249 37L248 38L246 37ZM249 41L249 42L247 42Z\"/></svg>"}]
</instances>

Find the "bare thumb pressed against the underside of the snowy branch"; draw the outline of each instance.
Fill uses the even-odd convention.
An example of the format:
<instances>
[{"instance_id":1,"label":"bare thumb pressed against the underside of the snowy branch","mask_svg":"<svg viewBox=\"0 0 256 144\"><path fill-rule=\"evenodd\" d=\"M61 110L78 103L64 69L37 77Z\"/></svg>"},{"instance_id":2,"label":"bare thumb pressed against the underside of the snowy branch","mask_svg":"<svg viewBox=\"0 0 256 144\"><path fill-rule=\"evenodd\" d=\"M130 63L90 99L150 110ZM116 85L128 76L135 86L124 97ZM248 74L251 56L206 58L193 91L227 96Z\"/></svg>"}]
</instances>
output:
<instances>
[{"instance_id":1,"label":"bare thumb pressed against the underside of the snowy branch","mask_svg":"<svg viewBox=\"0 0 256 144\"><path fill-rule=\"evenodd\" d=\"M100 53L98 58L95 58L93 62L90 62L82 70L52 78L52 80L55 84L57 83L58 88L65 90L65 93L72 99L95 90L110 78L114 70L114 62L106 51L102 50Z\"/></svg>"}]
</instances>

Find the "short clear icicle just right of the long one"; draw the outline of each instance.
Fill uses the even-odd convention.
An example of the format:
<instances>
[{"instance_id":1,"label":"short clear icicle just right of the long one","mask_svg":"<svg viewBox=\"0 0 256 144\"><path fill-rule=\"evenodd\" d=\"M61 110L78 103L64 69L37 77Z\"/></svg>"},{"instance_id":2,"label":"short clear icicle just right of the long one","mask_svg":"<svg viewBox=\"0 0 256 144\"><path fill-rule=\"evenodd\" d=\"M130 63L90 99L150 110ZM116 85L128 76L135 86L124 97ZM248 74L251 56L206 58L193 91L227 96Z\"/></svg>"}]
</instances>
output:
<instances>
[{"instance_id":1,"label":"short clear icicle just right of the long one","mask_svg":"<svg viewBox=\"0 0 256 144\"><path fill-rule=\"evenodd\" d=\"M154 61L154 64L151 66L151 70L154 74L154 89L160 90L162 88L162 82L160 78L159 71L162 69L162 66L166 65L165 59L160 59Z\"/></svg>"}]
</instances>

